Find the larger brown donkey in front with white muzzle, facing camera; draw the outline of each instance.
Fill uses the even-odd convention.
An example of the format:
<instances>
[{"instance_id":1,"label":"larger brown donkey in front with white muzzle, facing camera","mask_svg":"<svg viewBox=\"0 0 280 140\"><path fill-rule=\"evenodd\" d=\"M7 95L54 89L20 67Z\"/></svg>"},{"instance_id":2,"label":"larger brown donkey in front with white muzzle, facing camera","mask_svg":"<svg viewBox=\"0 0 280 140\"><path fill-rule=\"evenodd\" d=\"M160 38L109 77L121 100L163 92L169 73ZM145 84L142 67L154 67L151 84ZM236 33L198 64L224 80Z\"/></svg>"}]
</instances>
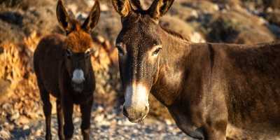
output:
<instances>
[{"instance_id":1,"label":"larger brown donkey in front with white muzzle, facing camera","mask_svg":"<svg viewBox=\"0 0 280 140\"><path fill-rule=\"evenodd\" d=\"M139 1L113 0L123 25L116 46L124 115L143 120L151 92L195 139L224 140L229 124L280 132L280 43L190 43L159 25L173 2L143 10Z\"/></svg>"}]
</instances>

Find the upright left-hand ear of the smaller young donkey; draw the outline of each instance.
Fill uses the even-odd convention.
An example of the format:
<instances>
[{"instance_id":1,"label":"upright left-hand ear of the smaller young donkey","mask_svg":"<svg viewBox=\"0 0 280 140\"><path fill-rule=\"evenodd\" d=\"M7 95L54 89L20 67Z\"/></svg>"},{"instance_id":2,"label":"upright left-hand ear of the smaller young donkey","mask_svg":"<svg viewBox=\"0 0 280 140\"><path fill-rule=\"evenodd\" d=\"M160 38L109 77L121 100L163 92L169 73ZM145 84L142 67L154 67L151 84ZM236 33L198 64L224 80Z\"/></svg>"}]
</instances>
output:
<instances>
[{"instance_id":1,"label":"upright left-hand ear of the smaller young donkey","mask_svg":"<svg viewBox=\"0 0 280 140\"><path fill-rule=\"evenodd\" d=\"M66 32L70 32L72 28L71 19L64 8L61 0L57 2L57 20L59 25L63 27Z\"/></svg>"}]
</instances>

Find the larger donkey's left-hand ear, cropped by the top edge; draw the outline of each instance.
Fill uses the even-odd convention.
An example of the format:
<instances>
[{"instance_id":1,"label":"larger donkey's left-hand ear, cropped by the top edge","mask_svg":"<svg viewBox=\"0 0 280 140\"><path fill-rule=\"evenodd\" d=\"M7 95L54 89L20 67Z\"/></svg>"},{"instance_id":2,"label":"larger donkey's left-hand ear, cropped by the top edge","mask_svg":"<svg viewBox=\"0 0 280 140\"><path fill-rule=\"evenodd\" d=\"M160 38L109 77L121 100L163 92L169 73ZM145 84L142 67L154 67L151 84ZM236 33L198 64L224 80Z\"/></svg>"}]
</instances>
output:
<instances>
[{"instance_id":1,"label":"larger donkey's left-hand ear, cropped by the top edge","mask_svg":"<svg viewBox=\"0 0 280 140\"><path fill-rule=\"evenodd\" d=\"M112 0L113 7L122 16L126 17L133 11L130 0Z\"/></svg>"}]
</instances>

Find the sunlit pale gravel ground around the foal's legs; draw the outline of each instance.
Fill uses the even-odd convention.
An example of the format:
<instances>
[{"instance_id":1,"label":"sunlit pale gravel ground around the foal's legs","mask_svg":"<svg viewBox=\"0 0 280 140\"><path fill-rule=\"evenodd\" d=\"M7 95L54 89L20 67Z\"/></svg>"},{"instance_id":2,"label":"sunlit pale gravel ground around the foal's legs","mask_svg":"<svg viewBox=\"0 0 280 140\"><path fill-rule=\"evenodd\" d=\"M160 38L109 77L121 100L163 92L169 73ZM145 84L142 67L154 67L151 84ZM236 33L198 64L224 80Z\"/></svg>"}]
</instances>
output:
<instances>
[{"instance_id":1,"label":"sunlit pale gravel ground around the foal's legs","mask_svg":"<svg viewBox=\"0 0 280 140\"><path fill-rule=\"evenodd\" d=\"M162 122L155 118L146 118L141 123L130 123L122 113L116 109L106 112L102 107L97 107L92 111L91 139L166 139L166 140L189 140L190 138L183 134L181 130L171 121ZM73 115L74 134L73 140L83 139L80 134L80 113ZM12 127L10 131L8 127ZM58 139L57 136L57 117L52 115L52 139ZM6 123L0 127L0 139L44 139L45 120L29 120L28 124L17 125L15 123Z\"/></svg>"}]
</instances>

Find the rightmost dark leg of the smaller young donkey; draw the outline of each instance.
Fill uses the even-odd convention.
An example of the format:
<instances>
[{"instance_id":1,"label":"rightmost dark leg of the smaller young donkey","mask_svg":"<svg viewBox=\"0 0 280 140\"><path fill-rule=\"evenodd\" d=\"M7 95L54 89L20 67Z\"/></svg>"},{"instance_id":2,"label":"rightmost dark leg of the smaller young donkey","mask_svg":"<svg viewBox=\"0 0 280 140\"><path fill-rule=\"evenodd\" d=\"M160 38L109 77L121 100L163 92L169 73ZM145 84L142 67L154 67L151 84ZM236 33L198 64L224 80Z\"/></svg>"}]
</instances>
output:
<instances>
[{"instance_id":1,"label":"rightmost dark leg of the smaller young donkey","mask_svg":"<svg viewBox=\"0 0 280 140\"><path fill-rule=\"evenodd\" d=\"M82 130L83 139L90 139L90 114L92 110L93 99L85 104L80 104L80 112L82 113L82 125L80 129Z\"/></svg>"}]
</instances>

